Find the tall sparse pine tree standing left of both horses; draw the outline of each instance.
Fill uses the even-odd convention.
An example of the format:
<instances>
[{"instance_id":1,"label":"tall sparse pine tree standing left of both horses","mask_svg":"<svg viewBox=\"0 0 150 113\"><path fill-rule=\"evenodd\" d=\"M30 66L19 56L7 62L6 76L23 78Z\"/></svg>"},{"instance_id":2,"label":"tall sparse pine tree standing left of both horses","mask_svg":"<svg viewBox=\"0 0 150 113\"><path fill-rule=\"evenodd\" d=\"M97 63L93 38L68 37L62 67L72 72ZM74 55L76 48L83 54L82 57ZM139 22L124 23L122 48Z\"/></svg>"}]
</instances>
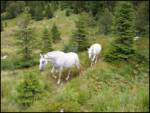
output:
<instances>
[{"instance_id":1,"label":"tall sparse pine tree standing left of both horses","mask_svg":"<svg viewBox=\"0 0 150 113\"><path fill-rule=\"evenodd\" d=\"M16 44L19 48L18 52L25 62L32 58L32 49L34 48L34 32L32 28L28 27L30 20L31 15L28 12L24 12L19 23L19 30L15 34Z\"/></svg>"}]
</instances>

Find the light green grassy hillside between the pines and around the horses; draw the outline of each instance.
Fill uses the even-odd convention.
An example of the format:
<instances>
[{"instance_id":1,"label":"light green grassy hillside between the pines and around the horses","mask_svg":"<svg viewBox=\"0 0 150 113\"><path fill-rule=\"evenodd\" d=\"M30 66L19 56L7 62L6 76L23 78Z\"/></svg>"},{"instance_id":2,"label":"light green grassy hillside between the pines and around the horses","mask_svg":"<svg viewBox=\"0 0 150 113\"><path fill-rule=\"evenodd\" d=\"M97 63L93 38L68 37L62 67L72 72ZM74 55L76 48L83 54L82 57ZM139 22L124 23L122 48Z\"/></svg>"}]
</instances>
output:
<instances>
[{"instance_id":1,"label":"light green grassy hillside between the pines and around the horses","mask_svg":"<svg viewBox=\"0 0 150 113\"><path fill-rule=\"evenodd\" d=\"M68 43L74 21L78 15L66 17L63 11L55 13L52 19L41 21L32 20L37 42L40 46L41 32L44 27L51 29L55 23L60 32L62 41L53 44L55 50L62 50ZM5 20L7 26L1 33L1 55L8 55L5 60L17 58L14 31L21 15L15 19ZM91 43L102 45L101 57L96 65L90 67L87 52L78 53L82 74L73 69L69 81L65 81L66 71L62 77L62 84L58 86L50 74L49 63L43 72L38 65L25 69L1 70L1 111L149 111L149 63L107 63L103 61L105 52L109 49L113 36L94 34L97 28L88 29ZM135 42L135 48L149 58L149 38L142 37ZM35 59L39 59L39 50L35 51ZM9 67L10 65L8 65ZM26 73L37 75L44 85L45 95L41 100L33 103L27 109L21 109L16 103L16 87L23 80Z\"/></svg>"}]
</instances>

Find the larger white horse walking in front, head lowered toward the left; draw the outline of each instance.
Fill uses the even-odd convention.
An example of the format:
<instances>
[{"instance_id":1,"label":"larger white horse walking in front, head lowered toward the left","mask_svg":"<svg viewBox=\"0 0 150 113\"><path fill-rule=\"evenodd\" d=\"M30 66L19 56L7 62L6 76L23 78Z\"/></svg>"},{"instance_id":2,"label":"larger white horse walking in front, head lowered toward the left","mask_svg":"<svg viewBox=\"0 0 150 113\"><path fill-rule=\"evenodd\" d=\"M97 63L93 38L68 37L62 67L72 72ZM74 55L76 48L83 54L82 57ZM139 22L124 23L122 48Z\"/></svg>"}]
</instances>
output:
<instances>
[{"instance_id":1,"label":"larger white horse walking in front, head lowered toward the left","mask_svg":"<svg viewBox=\"0 0 150 113\"><path fill-rule=\"evenodd\" d=\"M59 72L57 84L60 84L63 69L76 66L77 69L80 70L79 57L76 53L73 52L64 53L62 51L52 51L52 52L48 52L45 55L40 54L40 56L41 58L40 58L39 70L43 70L47 62L51 61L53 64L53 68L51 70L52 76L56 78L54 72ZM68 80L69 77L70 77L70 71L66 77L66 80Z\"/></svg>"}]
</instances>

